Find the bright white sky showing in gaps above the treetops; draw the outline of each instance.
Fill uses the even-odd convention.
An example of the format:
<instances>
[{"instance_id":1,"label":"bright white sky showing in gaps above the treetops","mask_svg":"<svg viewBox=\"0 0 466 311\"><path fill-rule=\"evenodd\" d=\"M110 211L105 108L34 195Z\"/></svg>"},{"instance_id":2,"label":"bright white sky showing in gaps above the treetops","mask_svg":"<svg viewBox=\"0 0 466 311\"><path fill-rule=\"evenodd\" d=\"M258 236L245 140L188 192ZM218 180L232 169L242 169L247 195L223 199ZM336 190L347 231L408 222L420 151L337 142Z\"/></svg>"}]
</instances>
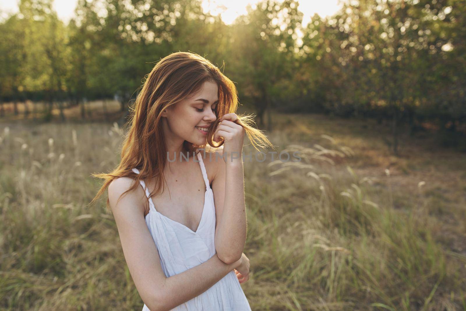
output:
<instances>
[{"instance_id":1,"label":"bright white sky showing in gaps above the treetops","mask_svg":"<svg viewBox=\"0 0 466 311\"><path fill-rule=\"evenodd\" d=\"M77 0L55 0L54 9L58 17L68 23L73 17ZM304 14L303 26L306 26L310 17L315 13L320 16L334 14L340 7L339 0L301 0L298 9ZM19 0L0 0L0 16L2 20L8 13L18 11ZM257 3L254 0L204 0L204 11L210 11L213 15L220 14L226 24L231 24L233 20L241 15L246 14L247 4ZM222 9L226 7L226 10Z\"/></svg>"}]
</instances>

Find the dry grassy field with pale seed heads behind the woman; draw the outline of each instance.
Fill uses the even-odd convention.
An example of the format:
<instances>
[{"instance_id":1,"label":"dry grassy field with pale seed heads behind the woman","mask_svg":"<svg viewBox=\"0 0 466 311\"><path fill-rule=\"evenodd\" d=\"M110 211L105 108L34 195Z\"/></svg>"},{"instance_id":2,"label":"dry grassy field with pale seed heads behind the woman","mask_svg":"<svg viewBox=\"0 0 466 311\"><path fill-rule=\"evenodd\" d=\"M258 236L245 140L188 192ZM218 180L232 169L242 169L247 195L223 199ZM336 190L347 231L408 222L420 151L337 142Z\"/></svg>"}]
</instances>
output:
<instances>
[{"instance_id":1,"label":"dry grassy field with pale seed heads behind the woman","mask_svg":"<svg viewBox=\"0 0 466 311\"><path fill-rule=\"evenodd\" d=\"M273 120L302 161L244 163L252 310L466 310L464 153L425 132L394 157L371 120ZM106 197L87 206L122 135L2 121L0 310L142 309Z\"/></svg>"}]
</instances>

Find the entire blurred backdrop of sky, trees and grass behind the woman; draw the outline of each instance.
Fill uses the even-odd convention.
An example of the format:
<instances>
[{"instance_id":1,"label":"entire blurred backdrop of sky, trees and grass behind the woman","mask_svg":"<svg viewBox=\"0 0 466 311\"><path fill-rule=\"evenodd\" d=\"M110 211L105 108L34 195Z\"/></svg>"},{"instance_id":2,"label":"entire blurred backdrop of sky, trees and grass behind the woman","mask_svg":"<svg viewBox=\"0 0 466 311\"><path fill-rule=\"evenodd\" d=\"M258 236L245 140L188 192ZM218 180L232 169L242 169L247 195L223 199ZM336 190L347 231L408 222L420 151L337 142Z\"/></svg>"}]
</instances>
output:
<instances>
[{"instance_id":1,"label":"entire blurred backdrop of sky, trees and grass behind the woman","mask_svg":"<svg viewBox=\"0 0 466 311\"><path fill-rule=\"evenodd\" d=\"M2 0L0 18L0 310L142 309L90 174L177 51L302 155L245 162L253 310L466 310L466 1Z\"/></svg>"}]
</instances>

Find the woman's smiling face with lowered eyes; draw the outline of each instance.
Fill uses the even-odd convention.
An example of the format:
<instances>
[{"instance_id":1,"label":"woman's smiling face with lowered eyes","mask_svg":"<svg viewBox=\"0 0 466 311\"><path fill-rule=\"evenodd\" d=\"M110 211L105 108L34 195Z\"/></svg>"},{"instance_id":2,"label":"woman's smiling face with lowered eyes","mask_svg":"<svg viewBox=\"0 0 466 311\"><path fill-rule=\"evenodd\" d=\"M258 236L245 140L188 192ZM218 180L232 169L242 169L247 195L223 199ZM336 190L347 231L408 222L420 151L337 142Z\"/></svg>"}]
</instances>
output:
<instances>
[{"instance_id":1,"label":"woman's smiling face with lowered eyes","mask_svg":"<svg viewBox=\"0 0 466 311\"><path fill-rule=\"evenodd\" d=\"M167 151L171 157L182 151L186 140L195 145L204 145L207 132L200 128L212 126L217 119L215 107L218 103L217 83L206 81L198 94L183 99L162 112L162 123L167 143Z\"/></svg>"}]
</instances>

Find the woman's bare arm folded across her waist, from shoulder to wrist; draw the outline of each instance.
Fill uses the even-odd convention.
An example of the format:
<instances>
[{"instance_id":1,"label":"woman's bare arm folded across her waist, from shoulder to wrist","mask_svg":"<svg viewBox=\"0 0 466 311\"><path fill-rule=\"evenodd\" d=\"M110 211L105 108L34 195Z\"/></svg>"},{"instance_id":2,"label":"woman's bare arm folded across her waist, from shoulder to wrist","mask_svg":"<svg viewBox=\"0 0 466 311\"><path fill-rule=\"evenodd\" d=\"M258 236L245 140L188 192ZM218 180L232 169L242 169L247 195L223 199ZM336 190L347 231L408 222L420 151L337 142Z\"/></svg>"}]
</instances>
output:
<instances>
[{"instance_id":1,"label":"woman's bare arm folded across her waist, from shoulder to wrist","mask_svg":"<svg viewBox=\"0 0 466 311\"><path fill-rule=\"evenodd\" d=\"M166 277L157 247L144 220L144 206L147 204L144 189L137 187L117 202L134 182L128 177L113 180L108 187L109 203L131 277L151 311L171 310L199 296L240 265L242 259L226 264L215 254L205 263Z\"/></svg>"}]
</instances>

